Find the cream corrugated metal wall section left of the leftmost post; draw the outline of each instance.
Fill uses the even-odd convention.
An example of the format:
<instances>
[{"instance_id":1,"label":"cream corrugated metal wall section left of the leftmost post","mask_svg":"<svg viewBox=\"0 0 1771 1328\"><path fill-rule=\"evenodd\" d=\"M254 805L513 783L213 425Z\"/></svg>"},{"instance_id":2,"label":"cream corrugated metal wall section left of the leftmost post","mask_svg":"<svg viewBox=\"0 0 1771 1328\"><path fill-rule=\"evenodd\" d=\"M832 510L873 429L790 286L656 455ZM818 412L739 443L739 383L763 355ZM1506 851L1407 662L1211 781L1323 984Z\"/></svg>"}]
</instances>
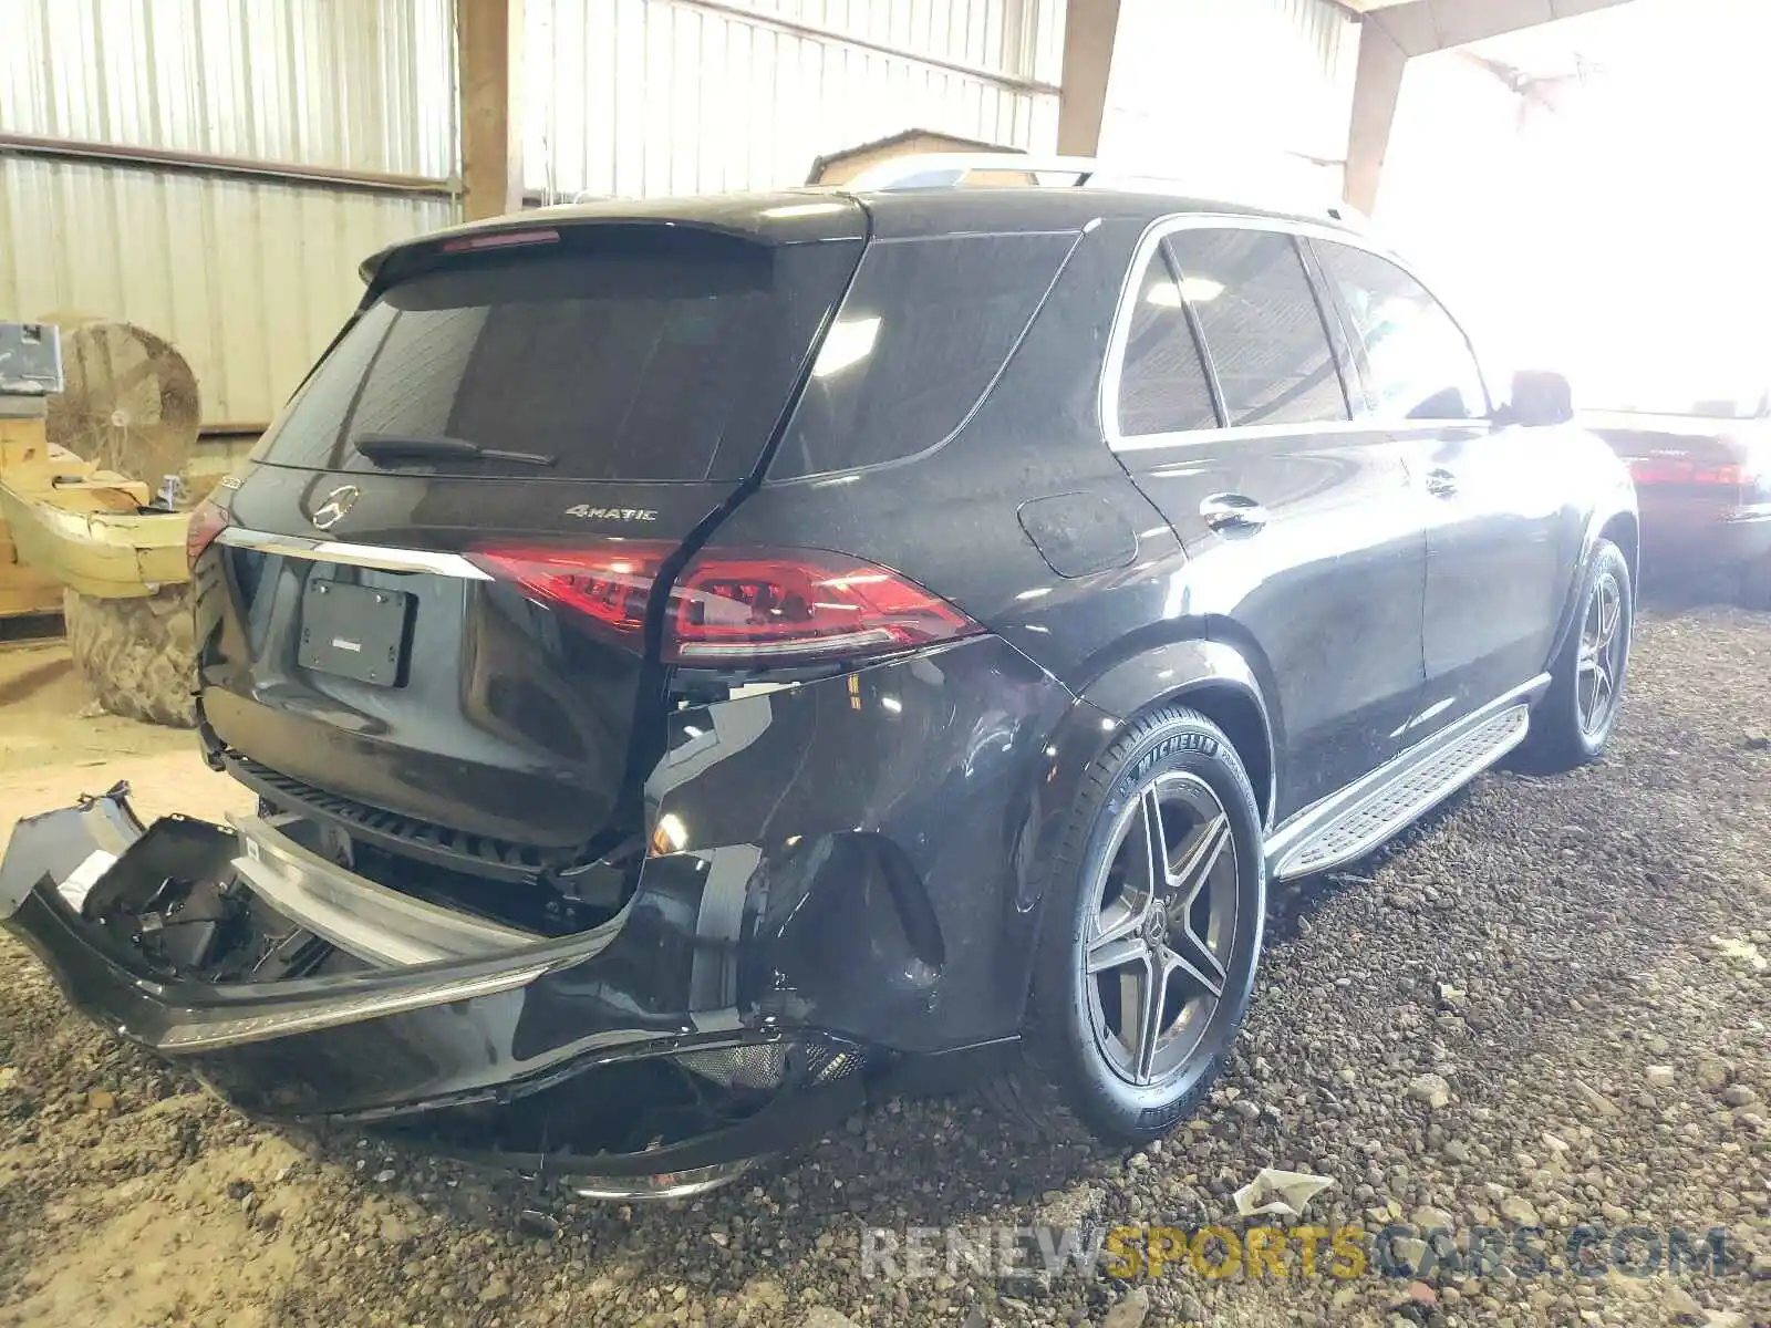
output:
<instances>
[{"instance_id":1,"label":"cream corrugated metal wall section left of the leftmost post","mask_svg":"<svg viewBox=\"0 0 1771 1328\"><path fill-rule=\"evenodd\" d=\"M455 174L452 0L0 0L0 131ZM122 317L191 361L205 421L264 421L354 269L453 204L0 156L0 317Z\"/></svg>"}]
</instances>

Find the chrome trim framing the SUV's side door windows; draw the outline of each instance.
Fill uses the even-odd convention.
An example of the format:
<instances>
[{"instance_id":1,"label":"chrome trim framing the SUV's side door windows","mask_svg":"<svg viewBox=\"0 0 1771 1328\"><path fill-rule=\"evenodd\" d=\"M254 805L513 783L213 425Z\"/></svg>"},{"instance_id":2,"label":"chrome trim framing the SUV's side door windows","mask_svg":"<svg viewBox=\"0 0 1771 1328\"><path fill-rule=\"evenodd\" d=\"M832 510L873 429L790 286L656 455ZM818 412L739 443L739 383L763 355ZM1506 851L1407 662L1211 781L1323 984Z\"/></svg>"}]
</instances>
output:
<instances>
[{"instance_id":1,"label":"chrome trim framing the SUV's side door windows","mask_svg":"<svg viewBox=\"0 0 1771 1328\"><path fill-rule=\"evenodd\" d=\"M1420 280L1406 262L1403 262L1392 250L1374 239L1351 232L1341 230L1337 227L1321 225L1314 221L1291 221L1277 216L1245 216L1238 212L1178 212L1174 216L1165 216L1151 221L1144 228L1144 234L1137 241L1137 248L1132 250L1132 264L1126 267L1125 278L1119 283L1119 303L1114 310L1112 331L1107 336L1107 358L1102 367L1102 384L1100 384L1100 427L1102 436L1107 439L1107 446L1112 452L1155 452L1162 448L1181 448L1197 446L1204 443L1234 443L1238 439L1256 441L1270 437L1296 437L1300 434L1422 434L1438 432L1443 429L1486 429L1488 421L1482 418L1475 420L1410 420L1410 418L1390 418L1381 416L1355 416L1351 420L1321 420L1316 423L1295 423L1295 425L1224 425L1218 429L1181 429L1169 430L1164 434L1125 434L1119 430L1119 377L1125 372L1125 349L1132 336L1132 306L1137 301L1137 290L1142 285L1144 269L1156 253L1156 246L1178 230L1268 230L1280 235L1293 235L1298 239L1319 239L1334 244L1346 244L1353 250L1364 250L1374 259L1383 259L1401 269L1410 280L1420 285L1433 301L1445 310L1445 317L1452 320L1458 333L1463 336L1465 347L1470 351L1470 358L1475 361L1477 377L1482 382L1482 395L1488 397L1488 379L1482 377L1482 361L1475 354L1475 347L1470 342L1470 335L1458 322L1458 317L1445 306L1433 287ZM1309 276L1309 273L1305 273ZM1348 402L1348 409L1353 404Z\"/></svg>"}]
</instances>

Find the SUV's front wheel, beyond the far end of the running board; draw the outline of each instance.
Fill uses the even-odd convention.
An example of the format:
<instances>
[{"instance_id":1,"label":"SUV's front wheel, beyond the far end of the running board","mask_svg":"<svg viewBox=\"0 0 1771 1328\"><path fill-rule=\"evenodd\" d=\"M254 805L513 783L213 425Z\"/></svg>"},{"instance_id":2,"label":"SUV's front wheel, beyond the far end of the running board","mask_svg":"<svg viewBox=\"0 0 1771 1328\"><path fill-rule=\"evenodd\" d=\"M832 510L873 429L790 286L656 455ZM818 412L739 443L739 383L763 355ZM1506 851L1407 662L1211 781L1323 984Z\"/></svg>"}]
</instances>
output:
<instances>
[{"instance_id":1,"label":"SUV's front wheel, beyond the far end of the running board","mask_svg":"<svg viewBox=\"0 0 1771 1328\"><path fill-rule=\"evenodd\" d=\"M1635 609L1628 560L1615 544L1599 540L1587 560L1574 630L1532 714L1527 744L1544 768L1573 770L1605 751L1624 698Z\"/></svg>"}]
</instances>

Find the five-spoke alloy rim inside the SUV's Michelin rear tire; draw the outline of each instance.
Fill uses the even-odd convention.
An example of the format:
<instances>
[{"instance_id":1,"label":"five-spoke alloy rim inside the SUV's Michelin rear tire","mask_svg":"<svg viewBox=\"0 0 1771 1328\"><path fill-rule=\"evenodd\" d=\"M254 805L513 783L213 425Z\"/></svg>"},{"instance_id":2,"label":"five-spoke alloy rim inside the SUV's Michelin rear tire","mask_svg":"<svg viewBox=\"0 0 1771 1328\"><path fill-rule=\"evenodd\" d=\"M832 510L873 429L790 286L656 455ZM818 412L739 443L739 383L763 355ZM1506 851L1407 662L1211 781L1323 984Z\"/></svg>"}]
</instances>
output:
<instances>
[{"instance_id":1,"label":"five-spoke alloy rim inside the SUV's Michelin rear tire","mask_svg":"<svg viewBox=\"0 0 1771 1328\"><path fill-rule=\"evenodd\" d=\"M1229 816L1211 786L1171 772L1112 827L1091 885L1082 947L1094 1043L1121 1078L1183 1071L1229 981L1238 871Z\"/></svg>"}]
</instances>

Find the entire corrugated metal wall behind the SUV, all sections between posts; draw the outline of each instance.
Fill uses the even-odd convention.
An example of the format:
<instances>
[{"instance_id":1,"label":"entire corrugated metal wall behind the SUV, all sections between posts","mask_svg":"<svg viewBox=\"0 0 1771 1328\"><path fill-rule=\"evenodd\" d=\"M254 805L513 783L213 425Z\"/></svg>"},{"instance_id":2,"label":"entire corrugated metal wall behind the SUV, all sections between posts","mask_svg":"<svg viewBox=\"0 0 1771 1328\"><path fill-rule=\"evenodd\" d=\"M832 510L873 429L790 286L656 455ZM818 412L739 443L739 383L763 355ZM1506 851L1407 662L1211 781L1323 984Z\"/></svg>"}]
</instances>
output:
<instances>
[{"instance_id":1,"label":"entire corrugated metal wall behind the SUV, all sections between posts","mask_svg":"<svg viewBox=\"0 0 1771 1328\"><path fill-rule=\"evenodd\" d=\"M528 184L795 184L907 127L1048 151L1064 0L528 0ZM1337 158L1353 25L1328 0L1125 0L1103 156L1203 140ZM0 133L448 181L453 0L0 0ZM1295 161L1295 158L1293 158ZM450 197L0 151L0 317L126 317L209 421L267 420L356 262Z\"/></svg>"}]
</instances>

